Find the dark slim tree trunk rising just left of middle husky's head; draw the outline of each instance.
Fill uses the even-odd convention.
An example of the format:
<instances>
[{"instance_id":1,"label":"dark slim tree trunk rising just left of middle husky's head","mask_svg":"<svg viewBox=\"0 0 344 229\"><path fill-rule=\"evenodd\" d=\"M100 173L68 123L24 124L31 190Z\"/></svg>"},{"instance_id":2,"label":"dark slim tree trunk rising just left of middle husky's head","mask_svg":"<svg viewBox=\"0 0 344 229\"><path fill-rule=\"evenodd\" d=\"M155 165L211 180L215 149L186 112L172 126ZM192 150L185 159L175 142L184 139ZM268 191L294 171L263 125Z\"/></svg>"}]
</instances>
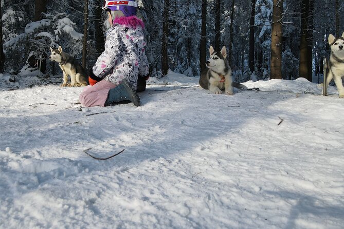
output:
<instances>
[{"instance_id":1,"label":"dark slim tree trunk rising just left of middle husky's head","mask_svg":"<svg viewBox=\"0 0 344 229\"><path fill-rule=\"evenodd\" d=\"M207 39L207 0L202 0L202 25L201 25L201 46L200 46L200 74L206 69L206 39Z\"/></svg>"}]
</instances>

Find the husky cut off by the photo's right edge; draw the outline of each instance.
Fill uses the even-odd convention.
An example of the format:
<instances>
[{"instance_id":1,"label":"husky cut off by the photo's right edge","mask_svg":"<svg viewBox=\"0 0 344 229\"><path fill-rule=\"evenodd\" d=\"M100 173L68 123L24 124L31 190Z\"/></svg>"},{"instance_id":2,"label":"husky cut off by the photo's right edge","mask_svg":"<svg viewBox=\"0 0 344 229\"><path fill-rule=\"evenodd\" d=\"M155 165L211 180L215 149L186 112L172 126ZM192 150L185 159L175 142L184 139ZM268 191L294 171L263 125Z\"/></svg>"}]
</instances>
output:
<instances>
[{"instance_id":1,"label":"husky cut off by the photo's right edge","mask_svg":"<svg viewBox=\"0 0 344 229\"><path fill-rule=\"evenodd\" d=\"M341 37L329 35L331 47L330 59L327 62L326 81L329 84L333 79L336 83L339 98L344 98L344 87L341 78L344 77L344 32Z\"/></svg>"}]
</instances>

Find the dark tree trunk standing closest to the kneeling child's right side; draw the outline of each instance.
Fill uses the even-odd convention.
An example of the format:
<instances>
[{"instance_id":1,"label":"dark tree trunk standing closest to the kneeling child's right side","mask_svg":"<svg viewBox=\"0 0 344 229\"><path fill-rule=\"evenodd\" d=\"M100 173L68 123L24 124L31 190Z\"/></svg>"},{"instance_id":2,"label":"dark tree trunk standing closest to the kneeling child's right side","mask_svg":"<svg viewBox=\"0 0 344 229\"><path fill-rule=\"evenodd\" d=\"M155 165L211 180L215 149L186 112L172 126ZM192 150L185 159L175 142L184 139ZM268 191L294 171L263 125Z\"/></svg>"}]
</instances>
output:
<instances>
[{"instance_id":1,"label":"dark tree trunk standing closest to the kneeling child's right side","mask_svg":"<svg viewBox=\"0 0 344 229\"><path fill-rule=\"evenodd\" d=\"M162 23L161 72L165 76L169 70L168 62L168 36L169 36L169 8L170 0L164 2L164 22Z\"/></svg>"}]
</instances>

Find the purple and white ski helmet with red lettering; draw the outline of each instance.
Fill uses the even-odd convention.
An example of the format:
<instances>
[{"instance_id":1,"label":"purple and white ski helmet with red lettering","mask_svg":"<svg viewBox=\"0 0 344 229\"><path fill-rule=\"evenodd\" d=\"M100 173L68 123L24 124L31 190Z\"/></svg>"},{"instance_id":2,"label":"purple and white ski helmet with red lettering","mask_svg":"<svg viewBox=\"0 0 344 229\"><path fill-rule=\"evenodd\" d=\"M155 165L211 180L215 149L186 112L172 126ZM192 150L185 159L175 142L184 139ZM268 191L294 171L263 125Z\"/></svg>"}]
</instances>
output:
<instances>
[{"instance_id":1,"label":"purple and white ski helmet with red lettering","mask_svg":"<svg viewBox=\"0 0 344 229\"><path fill-rule=\"evenodd\" d=\"M135 0L104 0L103 2L103 10L111 10L116 11L120 10L125 16L133 16L136 15L136 9L138 4Z\"/></svg>"}]
</instances>

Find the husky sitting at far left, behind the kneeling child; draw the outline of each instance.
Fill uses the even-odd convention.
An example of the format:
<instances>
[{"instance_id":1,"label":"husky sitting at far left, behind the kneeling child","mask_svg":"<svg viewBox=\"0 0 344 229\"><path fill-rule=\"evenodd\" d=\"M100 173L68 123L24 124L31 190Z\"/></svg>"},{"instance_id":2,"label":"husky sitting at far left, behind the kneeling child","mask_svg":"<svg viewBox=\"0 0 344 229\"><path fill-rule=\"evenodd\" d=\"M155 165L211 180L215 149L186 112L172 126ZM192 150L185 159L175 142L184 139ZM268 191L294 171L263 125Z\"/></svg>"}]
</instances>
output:
<instances>
[{"instance_id":1,"label":"husky sitting at far left, behind the kneeling child","mask_svg":"<svg viewBox=\"0 0 344 229\"><path fill-rule=\"evenodd\" d=\"M62 47L53 49L50 47L51 55L49 59L59 63L60 68L63 71L63 83L62 87L80 87L87 86L88 77L84 68L69 54L62 51ZM70 76L70 83L67 84L68 75Z\"/></svg>"}]
</instances>

